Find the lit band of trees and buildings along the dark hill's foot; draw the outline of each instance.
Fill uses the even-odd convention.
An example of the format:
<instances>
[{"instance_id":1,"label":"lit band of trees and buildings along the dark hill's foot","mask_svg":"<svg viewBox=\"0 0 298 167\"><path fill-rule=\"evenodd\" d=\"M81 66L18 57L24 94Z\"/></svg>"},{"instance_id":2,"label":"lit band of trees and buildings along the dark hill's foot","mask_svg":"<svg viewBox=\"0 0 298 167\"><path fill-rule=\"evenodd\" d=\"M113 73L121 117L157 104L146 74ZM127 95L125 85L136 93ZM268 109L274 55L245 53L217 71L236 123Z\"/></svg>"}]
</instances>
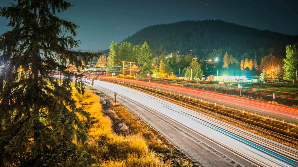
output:
<instances>
[{"instance_id":1,"label":"lit band of trees and buildings along the dark hill's foot","mask_svg":"<svg viewBox=\"0 0 298 167\"><path fill-rule=\"evenodd\" d=\"M215 58L203 57L192 54L180 54L177 52L167 54L155 54L151 52L147 42L142 46L132 45L130 42L111 43L108 58L102 56L98 59L97 64L106 64L110 72L121 72L122 61L132 61L139 63L141 70L139 75L152 75L154 77L168 78L171 74L184 74L185 77L200 79L205 75L214 75L218 70L219 75L242 75L260 76L263 82L266 78L273 78L274 81L288 79L294 81L294 73L297 70L298 63L295 62L297 57L297 45L288 45L286 47L286 58L280 58L273 54L264 56L259 62L254 58L241 59L234 57L232 54L225 52ZM291 65L286 65L291 62ZM291 72L286 72L292 69ZM211 72L211 73L209 73ZM208 74L209 73L209 74ZM266 78L264 78L266 77Z\"/></svg>"}]
</instances>

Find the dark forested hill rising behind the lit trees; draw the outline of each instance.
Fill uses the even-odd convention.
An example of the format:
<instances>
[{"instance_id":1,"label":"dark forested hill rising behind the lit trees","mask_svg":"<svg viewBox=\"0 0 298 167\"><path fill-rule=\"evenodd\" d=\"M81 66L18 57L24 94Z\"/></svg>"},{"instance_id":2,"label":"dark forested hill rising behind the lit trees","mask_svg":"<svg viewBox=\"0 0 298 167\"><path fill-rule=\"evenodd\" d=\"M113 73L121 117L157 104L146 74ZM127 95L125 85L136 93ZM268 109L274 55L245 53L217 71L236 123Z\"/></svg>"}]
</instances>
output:
<instances>
[{"instance_id":1,"label":"dark forested hill rising behind the lit trees","mask_svg":"<svg viewBox=\"0 0 298 167\"><path fill-rule=\"evenodd\" d=\"M288 44L298 43L298 36L249 28L220 20L181 21L146 27L124 41L141 45L145 41L153 53L195 51L200 56L213 50L229 53L252 53L261 57L269 52L285 55Z\"/></svg>"}]
</instances>

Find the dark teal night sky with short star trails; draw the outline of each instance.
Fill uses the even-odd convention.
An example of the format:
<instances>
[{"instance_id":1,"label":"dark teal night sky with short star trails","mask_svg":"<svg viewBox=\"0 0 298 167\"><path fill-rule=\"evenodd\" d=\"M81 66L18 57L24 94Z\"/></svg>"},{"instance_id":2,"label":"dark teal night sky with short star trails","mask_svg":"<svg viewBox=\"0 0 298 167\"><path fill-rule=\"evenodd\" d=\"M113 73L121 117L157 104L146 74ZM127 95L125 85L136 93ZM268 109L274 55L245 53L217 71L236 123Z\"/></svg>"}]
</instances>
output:
<instances>
[{"instance_id":1,"label":"dark teal night sky with short star trails","mask_svg":"<svg viewBox=\"0 0 298 167\"><path fill-rule=\"evenodd\" d=\"M1 0L5 7L13 0ZM69 0L74 7L59 14L79 26L80 49L107 49L142 28L183 20L220 19L284 34L298 34L298 0ZM206 5L207 4L207 5ZM9 30L0 17L0 34Z\"/></svg>"}]
</instances>

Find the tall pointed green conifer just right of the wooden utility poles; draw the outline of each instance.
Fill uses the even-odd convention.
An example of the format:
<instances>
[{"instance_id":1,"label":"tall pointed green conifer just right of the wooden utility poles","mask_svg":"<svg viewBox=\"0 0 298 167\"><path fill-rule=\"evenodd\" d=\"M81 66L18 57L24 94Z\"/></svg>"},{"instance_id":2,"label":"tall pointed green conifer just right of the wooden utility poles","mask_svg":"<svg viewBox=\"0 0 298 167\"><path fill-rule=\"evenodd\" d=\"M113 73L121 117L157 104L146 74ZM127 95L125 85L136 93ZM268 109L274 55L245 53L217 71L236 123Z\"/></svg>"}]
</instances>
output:
<instances>
[{"instance_id":1,"label":"tall pointed green conifer just right of the wooden utility poles","mask_svg":"<svg viewBox=\"0 0 298 167\"><path fill-rule=\"evenodd\" d=\"M147 42L145 42L140 48L140 54L137 57L138 63L141 64L141 70L139 71L139 74L141 75L151 74L151 69L152 69L151 56L152 56L152 53L150 51L150 48Z\"/></svg>"}]
</instances>

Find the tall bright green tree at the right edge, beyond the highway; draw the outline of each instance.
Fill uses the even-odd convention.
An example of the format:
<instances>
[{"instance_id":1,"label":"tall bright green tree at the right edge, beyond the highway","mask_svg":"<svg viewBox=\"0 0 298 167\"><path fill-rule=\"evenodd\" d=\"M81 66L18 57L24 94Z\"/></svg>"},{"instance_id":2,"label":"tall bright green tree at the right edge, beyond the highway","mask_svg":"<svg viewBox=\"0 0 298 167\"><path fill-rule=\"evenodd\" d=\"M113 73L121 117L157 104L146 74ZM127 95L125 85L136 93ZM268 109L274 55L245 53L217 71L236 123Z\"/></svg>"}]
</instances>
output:
<instances>
[{"instance_id":1,"label":"tall bright green tree at the right edge, beyond the highway","mask_svg":"<svg viewBox=\"0 0 298 167\"><path fill-rule=\"evenodd\" d=\"M286 58L283 59L285 62L283 69L285 69L285 79L295 82L296 71L298 70L298 45L288 45L286 47Z\"/></svg>"}]
</instances>

